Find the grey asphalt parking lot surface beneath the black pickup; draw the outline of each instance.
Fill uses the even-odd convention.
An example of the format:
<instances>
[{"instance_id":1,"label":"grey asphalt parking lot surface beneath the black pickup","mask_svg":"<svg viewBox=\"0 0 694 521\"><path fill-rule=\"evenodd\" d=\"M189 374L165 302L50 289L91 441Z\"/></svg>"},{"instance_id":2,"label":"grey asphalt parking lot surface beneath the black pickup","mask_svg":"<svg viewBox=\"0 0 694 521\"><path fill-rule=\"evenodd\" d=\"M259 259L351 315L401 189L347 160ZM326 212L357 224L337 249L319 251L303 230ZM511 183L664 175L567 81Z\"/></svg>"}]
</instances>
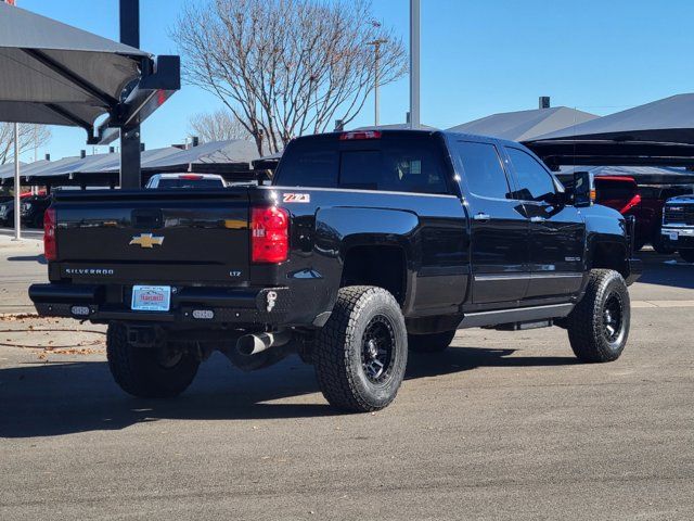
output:
<instances>
[{"instance_id":1,"label":"grey asphalt parking lot surface beneath the black pickup","mask_svg":"<svg viewBox=\"0 0 694 521\"><path fill-rule=\"evenodd\" d=\"M43 267L9 247L4 313L28 310ZM214 356L179 399L130 398L103 328L4 316L0 518L692 519L694 266L643 256L616 363L557 328L460 331L374 415L335 414L298 358Z\"/></svg>"}]
</instances>

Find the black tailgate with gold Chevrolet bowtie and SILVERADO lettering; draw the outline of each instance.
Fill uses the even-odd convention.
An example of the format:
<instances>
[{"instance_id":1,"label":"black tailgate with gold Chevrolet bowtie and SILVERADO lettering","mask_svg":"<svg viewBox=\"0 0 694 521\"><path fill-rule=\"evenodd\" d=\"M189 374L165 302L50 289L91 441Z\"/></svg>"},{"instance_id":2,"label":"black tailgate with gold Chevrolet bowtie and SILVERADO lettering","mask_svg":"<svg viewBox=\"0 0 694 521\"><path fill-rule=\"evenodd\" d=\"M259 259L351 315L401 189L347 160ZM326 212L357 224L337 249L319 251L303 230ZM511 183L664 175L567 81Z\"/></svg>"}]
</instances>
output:
<instances>
[{"instance_id":1,"label":"black tailgate with gold Chevrolet bowtie and SILVERADO lettering","mask_svg":"<svg viewBox=\"0 0 694 521\"><path fill-rule=\"evenodd\" d=\"M247 276L247 188L64 192L53 207L61 279L235 285Z\"/></svg>"}]
</instances>

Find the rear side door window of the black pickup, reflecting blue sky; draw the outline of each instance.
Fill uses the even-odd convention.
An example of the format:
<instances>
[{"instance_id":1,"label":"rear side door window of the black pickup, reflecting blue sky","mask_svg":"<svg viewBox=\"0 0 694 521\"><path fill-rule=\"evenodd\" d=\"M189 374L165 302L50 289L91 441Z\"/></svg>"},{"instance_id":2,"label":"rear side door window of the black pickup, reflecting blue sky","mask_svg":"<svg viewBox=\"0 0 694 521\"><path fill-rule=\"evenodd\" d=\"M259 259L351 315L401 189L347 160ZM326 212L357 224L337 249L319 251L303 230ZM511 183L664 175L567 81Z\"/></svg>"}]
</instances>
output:
<instances>
[{"instance_id":1,"label":"rear side door window of the black pickup, reflecting blue sky","mask_svg":"<svg viewBox=\"0 0 694 521\"><path fill-rule=\"evenodd\" d=\"M491 143L455 142L453 161L473 195L511 199L509 180L497 148Z\"/></svg>"}]
</instances>

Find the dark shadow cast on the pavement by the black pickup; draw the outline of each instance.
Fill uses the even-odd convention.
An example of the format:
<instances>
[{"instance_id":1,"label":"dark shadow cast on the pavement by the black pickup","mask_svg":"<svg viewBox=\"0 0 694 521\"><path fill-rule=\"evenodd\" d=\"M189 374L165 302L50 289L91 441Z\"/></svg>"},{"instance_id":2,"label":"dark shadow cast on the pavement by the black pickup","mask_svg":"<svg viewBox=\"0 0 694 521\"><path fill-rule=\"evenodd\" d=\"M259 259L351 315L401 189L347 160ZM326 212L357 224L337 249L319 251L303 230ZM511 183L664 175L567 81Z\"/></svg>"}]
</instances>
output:
<instances>
[{"instance_id":1,"label":"dark shadow cast on the pavement by the black pickup","mask_svg":"<svg viewBox=\"0 0 694 521\"><path fill-rule=\"evenodd\" d=\"M514 352L452 347L438 355L411 354L406 379L485 366L576 364L573 357L511 356ZM339 415L321 396L307 396L320 391L312 368L295 357L252 373L230 368L221 355L214 358L201 366L184 394L167 401L127 396L113 383L105 361L37 363L0 370L0 437L120 430L159 419L264 420ZM296 399L274 403L285 398Z\"/></svg>"}]
</instances>

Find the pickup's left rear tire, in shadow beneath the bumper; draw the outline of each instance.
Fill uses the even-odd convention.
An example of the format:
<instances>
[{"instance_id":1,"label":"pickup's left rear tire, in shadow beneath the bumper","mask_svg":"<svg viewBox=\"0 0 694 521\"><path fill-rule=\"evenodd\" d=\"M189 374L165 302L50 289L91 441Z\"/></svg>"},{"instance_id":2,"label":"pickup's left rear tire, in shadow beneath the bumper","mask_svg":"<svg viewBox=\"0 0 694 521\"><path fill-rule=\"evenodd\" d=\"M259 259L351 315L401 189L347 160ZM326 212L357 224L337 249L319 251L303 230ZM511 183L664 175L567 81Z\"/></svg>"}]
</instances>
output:
<instances>
[{"instance_id":1,"label":"pickup's left rear tire, in shadow beneath the bumper","mask_svg":"<svg viewBox=\"0 0 694 521\"><path fill-rule=\"evenodd\" d=\"M193 381L200 360L190 352L170 367L160 363L162 347L134 347L123 325L108 326L106 357L116 383L126 393L141 398L170 398L181 394Z\"/></svg>"}]
</instances>

